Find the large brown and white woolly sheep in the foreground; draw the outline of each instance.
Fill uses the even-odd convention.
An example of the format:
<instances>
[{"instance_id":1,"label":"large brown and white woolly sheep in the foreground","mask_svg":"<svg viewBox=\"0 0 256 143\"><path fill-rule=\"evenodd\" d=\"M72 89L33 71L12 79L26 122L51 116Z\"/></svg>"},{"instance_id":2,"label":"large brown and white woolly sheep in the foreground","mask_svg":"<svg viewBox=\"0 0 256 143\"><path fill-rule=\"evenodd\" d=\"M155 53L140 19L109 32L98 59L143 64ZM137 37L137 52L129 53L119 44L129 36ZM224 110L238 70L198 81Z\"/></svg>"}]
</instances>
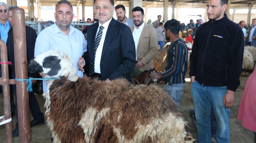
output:
<instances>
[{"instance_id":1,"label":"large brown and white woolly sheep in the foreground","mask_svg":"<svg viewBox=\"0 0 256 143\"><path fill-rule=\"evenodd\" d=\"M78 78L71 59L58 50L37 55L29 72L45 73L48 126L57 143L192 142L176 105L157 86L134 86Z\"/></svg>"}]
</instances>

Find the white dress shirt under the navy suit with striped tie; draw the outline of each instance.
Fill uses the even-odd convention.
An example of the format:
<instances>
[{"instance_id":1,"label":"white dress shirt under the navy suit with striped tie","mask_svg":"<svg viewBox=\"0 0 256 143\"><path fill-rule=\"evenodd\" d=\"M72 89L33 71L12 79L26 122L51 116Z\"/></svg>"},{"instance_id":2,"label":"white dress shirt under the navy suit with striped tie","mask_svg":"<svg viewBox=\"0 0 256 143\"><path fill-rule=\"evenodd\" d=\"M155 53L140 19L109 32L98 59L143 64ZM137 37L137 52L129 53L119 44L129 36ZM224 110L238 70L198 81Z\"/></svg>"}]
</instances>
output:
<instances>
[{"instance_id":1,"label":"white dress shirt under the navy suit with striped tie","mask_svg":"<svg viewBox=\"0 0 256 143\"><path fill-rule=\"evenodd\" d=\"M102 30L102 36L101 36L101 40L99 42L99 47L97 48L97 51L96 51L96 54L95 54L95 63L94 63L95 73L101 73L100 72L101 53L102 53L106 33L107 33L107 30L108 30L108 27L109 27L109 24L110 24L111 20L112 20L112 18L109 21L107 21L106 23L102 24L102 25L99 23L99 26L103 26L104 29ZM99 27L98 27L98 30L97 30L97 34L98 34L98 32L99 32ZM96 34L96 37L97 37L97 34ZM96 37L95 37L95 39L96 39Z\"/></svg>"}]
</instances>

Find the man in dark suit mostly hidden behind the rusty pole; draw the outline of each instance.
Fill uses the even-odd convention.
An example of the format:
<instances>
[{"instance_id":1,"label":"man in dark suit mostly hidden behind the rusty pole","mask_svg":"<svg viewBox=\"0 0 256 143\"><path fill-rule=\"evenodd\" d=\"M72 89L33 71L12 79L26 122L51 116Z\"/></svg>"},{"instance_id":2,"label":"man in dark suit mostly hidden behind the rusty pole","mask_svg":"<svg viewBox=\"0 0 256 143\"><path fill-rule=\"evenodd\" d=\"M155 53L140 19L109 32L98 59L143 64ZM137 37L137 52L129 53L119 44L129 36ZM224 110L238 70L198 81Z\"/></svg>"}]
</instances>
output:
<instances>
[{"instance_id":1,"label":"man in dark suit mostly hidden behind the rusty pole","mask_svg":"<svg viewBox=\"0 0 256 143\"><path fill-rule=\"evenodd\" d=\"M18 8L17 6L10 6L8 8L7 14L8 14L8 19L10 24L13 25L13 17L12 17L12 9L13 8ZM27 60L28 63L30 60L34 58L34 50L35 50L35 43L36 43L36 31L29 27L26 26L26 45L27 45ZM7 52L8 52L8 61L12 62L11 65L11 71L12 71L12 78L15 78L15 61L14 61L14 43L13 43L13 27L9 30L8 32L8 39L7 39ZM36 74L31 74L28 73L28 77L33 77L37 78L38 73ZM36 80L32 80L32 83L35 83ZM33 85L32 85L33 87ZM15 94L16 94L16 85L13 86ZM17 105L17 96L16 96L16 105ZM40 110L39 104L37 102L37 99L34 95L33 92L29 92L29 108L31 111L32 116L34 119L30 122L30 127L44 124L44 116L43 113ZM18 132L18 113L16 112L16 117L17 117L17 123L16 123L16 129L13 130L12 136L17 137L19 136Z\"/></svg>"}]
</instances>

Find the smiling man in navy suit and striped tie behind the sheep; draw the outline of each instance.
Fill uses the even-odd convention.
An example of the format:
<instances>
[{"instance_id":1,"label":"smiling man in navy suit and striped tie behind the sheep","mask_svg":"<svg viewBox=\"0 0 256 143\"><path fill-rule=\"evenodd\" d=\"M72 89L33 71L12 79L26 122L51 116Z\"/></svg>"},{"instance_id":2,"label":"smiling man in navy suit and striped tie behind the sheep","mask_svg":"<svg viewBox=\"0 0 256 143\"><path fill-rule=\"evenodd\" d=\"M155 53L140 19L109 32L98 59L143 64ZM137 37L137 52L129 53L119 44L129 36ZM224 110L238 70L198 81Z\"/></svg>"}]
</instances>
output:
<instances>
[{"instance_id":1,"label":"smiling man in navy suit and striped tie behind the sheep","mask_svg":"<svg viewBox=\"0 0 256 143\"><path fill-rule=\"evenodd\" d=\"M84 72L89 66L89 75L102 81L125 78L131 82L136 56L131 30L112 18L113 0L95 0L94 9L99 22L87 30L87 52L78 61L79 69Z\"/></svg>"}]
</instances>

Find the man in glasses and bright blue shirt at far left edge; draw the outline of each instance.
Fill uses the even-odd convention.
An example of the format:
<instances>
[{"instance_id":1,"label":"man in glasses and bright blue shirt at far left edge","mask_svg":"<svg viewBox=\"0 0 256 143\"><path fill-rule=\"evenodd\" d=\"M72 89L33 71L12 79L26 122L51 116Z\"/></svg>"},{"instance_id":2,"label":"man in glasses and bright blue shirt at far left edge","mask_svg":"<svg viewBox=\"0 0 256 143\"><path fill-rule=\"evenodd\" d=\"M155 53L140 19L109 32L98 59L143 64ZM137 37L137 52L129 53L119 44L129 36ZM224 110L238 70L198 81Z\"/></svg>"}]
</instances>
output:
<instances>
[{"instance_id":1,"label":"man in glasses and bright blue shirt at far left edge","mask_svg":"<svg viewBox=\"0 0 256 143\"><path fill-rule=\"evenodd\" d=\"M8 5L0 2L0 39L2 39L5 43L7 42L8 31L11 28L7 18L7 9Z\"/></svg>"}]
</instances>

